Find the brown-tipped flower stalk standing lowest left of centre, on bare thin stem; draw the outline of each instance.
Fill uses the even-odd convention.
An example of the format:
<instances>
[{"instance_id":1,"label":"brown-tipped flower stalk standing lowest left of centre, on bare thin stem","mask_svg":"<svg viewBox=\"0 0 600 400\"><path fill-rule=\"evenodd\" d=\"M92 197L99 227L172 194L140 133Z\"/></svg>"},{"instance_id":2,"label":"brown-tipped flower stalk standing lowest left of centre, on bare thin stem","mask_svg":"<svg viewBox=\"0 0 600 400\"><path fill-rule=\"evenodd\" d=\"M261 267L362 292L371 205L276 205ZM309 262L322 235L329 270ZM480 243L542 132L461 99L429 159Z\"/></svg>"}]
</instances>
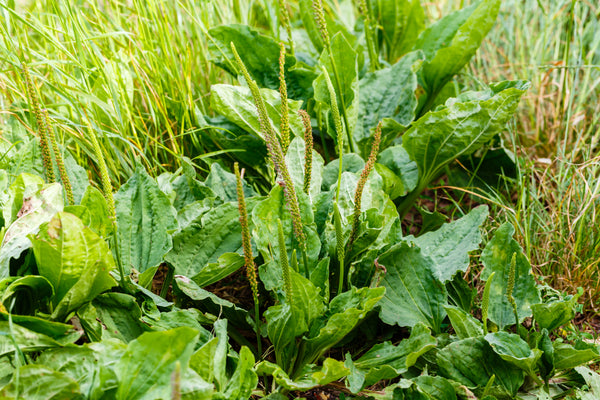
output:
<instances>
[{"instance_id":1,"label":"brown-tipped flower stalk standing lowest left of centre, on bare thin stem","mask_svg":"<svg viewBox=\"0 0 600 400\"><path fill-rule=\"evenodd\" d=\"M246 198L244 197L244 187L242 186L242 175L240 167L236 162L233 164L235 179L237 184L238 210L240 213L240 225L242 226L242 248L244 249L244 266L246 268L246 277L252 289L252 298L254 300L254 322L256 325L256 345L258 354L262 355L262 343L260 340L260 314L258 307L258 276L256 273L256 264L252 256L252 244L250 243L250 229L248 227L248 212L246 210Z\"/></svg>"}]
</instances>

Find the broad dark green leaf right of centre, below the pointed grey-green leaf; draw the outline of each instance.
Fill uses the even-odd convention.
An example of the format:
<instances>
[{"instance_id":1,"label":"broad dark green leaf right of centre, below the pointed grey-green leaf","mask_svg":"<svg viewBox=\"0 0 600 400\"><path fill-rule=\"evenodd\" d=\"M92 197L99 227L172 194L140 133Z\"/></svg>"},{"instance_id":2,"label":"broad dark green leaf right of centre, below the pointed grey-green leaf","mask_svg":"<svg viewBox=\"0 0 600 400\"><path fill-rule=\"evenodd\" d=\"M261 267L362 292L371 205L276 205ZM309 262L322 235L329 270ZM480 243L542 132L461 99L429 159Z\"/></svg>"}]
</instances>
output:
<instances>
[{"instance_id":1,"label":"broad dark green leaf right of centre, below the pointed grey-green leaf","mask_svg":"<svg viewBox=\"0 0 600 400\"><path fill-rule=\"evenodd\" d=\"M414 244L400 242L379 257L387 269L379 317L390 325L415 326L421 322L441 331L446 317L446 288L435 278L433 260Z\"/></svg>"}]
</instances>

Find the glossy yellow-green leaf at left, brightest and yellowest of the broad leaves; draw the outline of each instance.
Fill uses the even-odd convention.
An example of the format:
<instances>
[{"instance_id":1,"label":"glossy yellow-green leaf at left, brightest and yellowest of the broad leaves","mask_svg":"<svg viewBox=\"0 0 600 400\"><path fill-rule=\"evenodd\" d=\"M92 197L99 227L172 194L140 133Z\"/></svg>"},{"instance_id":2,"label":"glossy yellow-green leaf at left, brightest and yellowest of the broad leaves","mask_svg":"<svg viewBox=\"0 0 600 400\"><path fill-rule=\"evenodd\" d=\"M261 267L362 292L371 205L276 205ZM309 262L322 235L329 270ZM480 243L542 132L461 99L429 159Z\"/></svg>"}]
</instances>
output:
<instances>
[{"instance_id":1,"label":"glossy yellow-green leaf at left, brightest and yellowest of the broad leaves","mask_svg":"<svg viewBox=\"0 0 600 400\"><path fill-rule=\"evenodd\" d=\"M59 212L30 237L40 275L56 294L53 319L64 319L84 303L116 286L108 245L79 218Z\"/></svg>"}]
</instances>

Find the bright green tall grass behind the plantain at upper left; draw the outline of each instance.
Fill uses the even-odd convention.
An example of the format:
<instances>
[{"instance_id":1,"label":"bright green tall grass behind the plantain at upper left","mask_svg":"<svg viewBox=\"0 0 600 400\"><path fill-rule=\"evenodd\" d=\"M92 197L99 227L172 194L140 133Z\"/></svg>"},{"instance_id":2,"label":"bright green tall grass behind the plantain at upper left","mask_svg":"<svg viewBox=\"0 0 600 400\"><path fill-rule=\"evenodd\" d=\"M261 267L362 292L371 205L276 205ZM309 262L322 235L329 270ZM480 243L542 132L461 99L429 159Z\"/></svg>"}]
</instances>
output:
<instances>
[{"instance_id":1,"label":"bright green tall grass behind the plantain at upper left","mask_svg":"<svg viewBox=\"0 0 600 400\"><path fill-rule=\"evenodd\" d=\"M17 112L26 103L20 74L26 61L61 142L81 164L97 165L84 128L89 122L117 186L136 158L155 173L175 169L182 156L199 157L203 167L200 116L210 113L210 86L228 79L208 60L205 32L223 23L254 23L254 2L25 3L11 8L0 1L4 110Z\"/></svg>"}]
</instances>

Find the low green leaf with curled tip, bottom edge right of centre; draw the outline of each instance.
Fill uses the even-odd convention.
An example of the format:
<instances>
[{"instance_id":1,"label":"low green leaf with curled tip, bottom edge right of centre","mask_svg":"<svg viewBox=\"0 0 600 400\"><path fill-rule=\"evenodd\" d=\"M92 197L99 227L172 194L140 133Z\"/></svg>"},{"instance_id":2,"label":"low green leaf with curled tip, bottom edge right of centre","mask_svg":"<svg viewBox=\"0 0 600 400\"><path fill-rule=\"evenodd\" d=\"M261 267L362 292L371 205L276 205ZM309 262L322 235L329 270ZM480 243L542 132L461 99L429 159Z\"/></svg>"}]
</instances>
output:
<instances>
[{"instance_id":1,"label":"low green leaf with curled tip, bottom edge right of centre","mask_svg":"<svg viewBox=\"0 0 600 400\"><path fill-rule=\"evenodd\" d=\"M397 346L383 342L373 346L358 360L352 362L346 355L346 366L352 370L348 376L349 389L358 393L380 380L393 379L408 371L417 359L436 346L431 331L423 324L417 324L408 339Z\"/></svg>"}]
</instances>

